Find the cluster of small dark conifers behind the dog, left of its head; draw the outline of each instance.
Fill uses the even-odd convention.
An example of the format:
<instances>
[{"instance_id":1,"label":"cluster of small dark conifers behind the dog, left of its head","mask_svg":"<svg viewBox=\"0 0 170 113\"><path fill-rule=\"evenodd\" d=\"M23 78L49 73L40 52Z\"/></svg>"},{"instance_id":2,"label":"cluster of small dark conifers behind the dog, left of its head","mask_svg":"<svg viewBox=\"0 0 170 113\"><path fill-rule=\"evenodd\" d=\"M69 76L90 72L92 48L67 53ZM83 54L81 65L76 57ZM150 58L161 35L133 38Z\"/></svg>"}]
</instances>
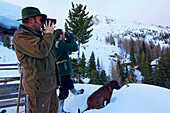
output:
<instances>
[{"instance_id":1,"label":"cluster of small dark conifers behind the dog, left of its head","mask_svg":"<svg viewBox=\"0 0 170 113\"><path fill-rule=\"evenodd\" d=\"M72 78L74 78L75 82L77 79L77 74L80 75L79 83L83 83L84 78L90 79L88 82L89 84L103 85L106 84L108 81L110 81L110 77L106 75L105 70L100 64L99 58L97 59L97 63L96 63L94 52L91 53L88 62L86 62L84 53L80 58L79 64L77 64L76 58L72 58L71 62L73 67L73 73L71 76Z\"/></svg>"}]
</instances>

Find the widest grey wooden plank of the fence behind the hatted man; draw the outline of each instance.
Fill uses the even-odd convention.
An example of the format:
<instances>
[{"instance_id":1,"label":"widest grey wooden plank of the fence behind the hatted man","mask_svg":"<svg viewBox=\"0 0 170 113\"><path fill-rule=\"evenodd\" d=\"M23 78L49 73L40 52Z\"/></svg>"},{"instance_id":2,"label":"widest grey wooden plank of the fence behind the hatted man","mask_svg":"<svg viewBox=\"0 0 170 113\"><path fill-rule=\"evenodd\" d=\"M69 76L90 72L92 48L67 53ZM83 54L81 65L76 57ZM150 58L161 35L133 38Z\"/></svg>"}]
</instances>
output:
<instances>
[{"instance_id":1,"label":"widest grey wooden plank of the fence behind the hatted man","mask_svg":"<svg viewBox=\"0 0 170 113\"><path fill-rule=\"evenodd\" d=\"M16 93L18 92L18 89L19 84L0 85L0 94Z\"/></svg>"}]
</instances>

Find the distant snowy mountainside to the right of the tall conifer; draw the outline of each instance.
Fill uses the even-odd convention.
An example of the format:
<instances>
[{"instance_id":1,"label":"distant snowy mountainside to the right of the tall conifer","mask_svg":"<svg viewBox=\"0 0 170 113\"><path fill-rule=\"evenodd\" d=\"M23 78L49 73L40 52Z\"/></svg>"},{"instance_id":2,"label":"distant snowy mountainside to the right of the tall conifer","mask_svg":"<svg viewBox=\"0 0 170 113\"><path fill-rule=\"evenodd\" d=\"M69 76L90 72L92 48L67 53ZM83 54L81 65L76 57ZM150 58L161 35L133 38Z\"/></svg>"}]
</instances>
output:
<instances>
[{"instance_id":1,"label":"distant snowy mountainside to the right of the tall conifer","mask_svg":"<svg viewBox=\"0 0 170 113\"><path fill-rule=\"evenodd\" d=\"M108 18L101 15L96 16L96 18L97 21L95 20L96 23L94 24L94 30L92 31L93 36L89 39L88 43L81 45L80 54L84 52L88 61L92 51L94 51L96 62L97 58L99 58L100 64L103 65L103 68L108 75L111 70L111 61L117 61L117 57L113 58L112 56L115 56L115 54L121 56L122 51L118 47L119 38L133 38L134 40L136 40L137 38L133 37L134 34L143 34L145 35L145 42L153 41L155 45L160 44L161 48L170 46L168 43L165 43L165 41L153 40L153 36L157 36L161 33L170 33L169 28L158 27L156 25L149 26L137 22L125 23L115 20L114 18ZM156 32L157 35L152 35L152 31ZM130 34L128 35L128 33ZM110 45L106 43L105 38L109 37L110 35L115 37L115 45ZM140 38L140 40L143 40L143 38ZM167 41L170 42L170 39L167 39ZM76 55L76 53L73 53L71 57L76 58ZM129 56L124 59L124 62L128 63L128 59Z\"/></svg>"}]
</instances>

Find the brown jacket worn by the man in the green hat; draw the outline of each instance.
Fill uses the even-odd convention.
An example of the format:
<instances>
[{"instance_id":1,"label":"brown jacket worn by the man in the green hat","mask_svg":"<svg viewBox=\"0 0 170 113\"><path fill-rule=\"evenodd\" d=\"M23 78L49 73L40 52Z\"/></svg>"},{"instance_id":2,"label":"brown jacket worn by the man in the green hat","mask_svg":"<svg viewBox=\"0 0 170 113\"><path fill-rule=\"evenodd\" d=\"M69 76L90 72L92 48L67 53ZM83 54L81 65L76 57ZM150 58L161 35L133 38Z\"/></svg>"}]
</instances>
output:
<instances>
[{"instance_id":1,"label":"brown jacket worn by the man in the green hat","mask_svg":"<svg viewBox=\"0 0 170 113\"><path fill-rule=\"evenodd\" d=\"M18 60L24 67L25 93L41 96L57 88L55 58L51 52L54 35L40 35L28 26L20 25L13 36Z\"/></svg>"}]
</instances>

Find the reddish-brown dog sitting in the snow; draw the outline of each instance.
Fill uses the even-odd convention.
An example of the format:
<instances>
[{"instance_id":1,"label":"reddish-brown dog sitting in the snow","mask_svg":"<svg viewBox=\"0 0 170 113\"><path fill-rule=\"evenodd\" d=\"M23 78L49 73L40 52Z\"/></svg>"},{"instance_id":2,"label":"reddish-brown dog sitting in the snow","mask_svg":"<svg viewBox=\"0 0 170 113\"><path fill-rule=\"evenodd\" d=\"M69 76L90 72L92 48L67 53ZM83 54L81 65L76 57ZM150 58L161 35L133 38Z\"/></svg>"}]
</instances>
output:
<instances>
[{"instance_id":1,"label":"reddish-brown dog sitting in the snow","mask_svg":"<svg viewBox=\"0 0 170 113\"><path fill-rule=\"evenodd\" d=\"M104 107L104 101L106 101L106 105L110 103L110 98L112 96L113 89L120 88L121 87L118 85L118 82L115 80L112 80L109 83L103 85L101 88L99 88L97 91L95 91L92 95L88 97L88 107L84 111L89 109L100 109ZM80 109L78 110L78 113L80 113Z\"/></svg>"}]
</instances>

